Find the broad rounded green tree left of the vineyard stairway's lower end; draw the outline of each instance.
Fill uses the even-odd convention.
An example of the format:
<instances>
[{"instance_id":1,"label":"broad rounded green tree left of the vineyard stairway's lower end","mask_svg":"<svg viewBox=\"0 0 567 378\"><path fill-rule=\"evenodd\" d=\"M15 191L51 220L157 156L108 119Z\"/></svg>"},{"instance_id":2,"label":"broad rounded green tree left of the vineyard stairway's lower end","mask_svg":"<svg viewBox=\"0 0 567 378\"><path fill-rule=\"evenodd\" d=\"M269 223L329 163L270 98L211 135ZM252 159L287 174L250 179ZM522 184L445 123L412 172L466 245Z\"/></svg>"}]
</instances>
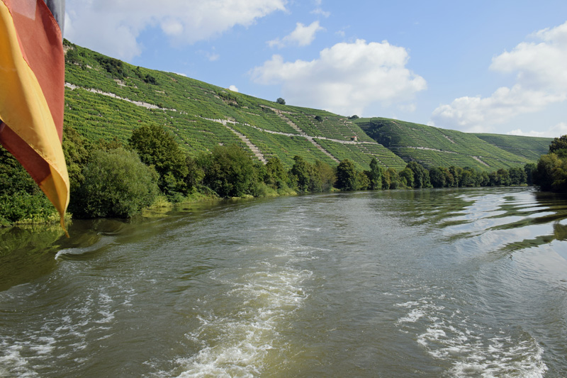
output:
<instances>
[{"instance_id":1,"label":"broad rounded green tree left of the vineyard stairway's lower end","mask_svg":"<svg viewBox=\"0 0 567 378\"><path fill-rule=\"evenodd\" d=\"M249 194L256 181L252 157L237 145L213 149L203 182L223 198Z\"/></svg>"}]
</instances>

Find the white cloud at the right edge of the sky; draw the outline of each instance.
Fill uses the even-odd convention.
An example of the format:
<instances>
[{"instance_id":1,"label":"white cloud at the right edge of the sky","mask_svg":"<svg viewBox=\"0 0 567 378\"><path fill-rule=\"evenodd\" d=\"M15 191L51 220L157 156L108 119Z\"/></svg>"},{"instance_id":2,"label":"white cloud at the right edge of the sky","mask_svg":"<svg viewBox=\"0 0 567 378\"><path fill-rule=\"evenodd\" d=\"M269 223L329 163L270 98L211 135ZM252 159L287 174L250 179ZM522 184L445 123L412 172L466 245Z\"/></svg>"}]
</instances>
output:
<instances>
[{"instance_id":1,"label":"white cloud at the right edge of the sky","mask_svg":"<svg viewBox=\"0 0 567 378\"><path fill-rule=\"evenodd\" d=\"M433 111L434 123L439 127L486 132L522 113L542 111L550 104L565 101L567 22L539 30L531 38L539 43L522 42L512 51L494 57L490 65L490 70L496 72L517 73L512 88L499 88L490 97L465 96L441 105Z\"/></svg>"}]
</instances>

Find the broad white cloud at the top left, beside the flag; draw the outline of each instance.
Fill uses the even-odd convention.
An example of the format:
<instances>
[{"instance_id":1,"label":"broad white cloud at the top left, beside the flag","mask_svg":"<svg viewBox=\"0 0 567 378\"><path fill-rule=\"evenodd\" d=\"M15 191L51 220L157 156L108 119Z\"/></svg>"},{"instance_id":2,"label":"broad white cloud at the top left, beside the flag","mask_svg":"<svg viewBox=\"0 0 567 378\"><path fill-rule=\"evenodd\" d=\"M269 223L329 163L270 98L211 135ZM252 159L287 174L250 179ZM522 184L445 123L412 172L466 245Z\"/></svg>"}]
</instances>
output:
<instances>
[{"instance_id":1,"label":"broad white cloud at the top left, beside the flag","mask_svg":"<svg viewBox=\"0 0 567 378\"><path fill-rule=\"evenodd\" d=\"M138 36L160 28L184 45L213 38L230 28L284 11L287 0L67 0L65 38L128 60L140 55Z\"/></svg>"}]
</instances>

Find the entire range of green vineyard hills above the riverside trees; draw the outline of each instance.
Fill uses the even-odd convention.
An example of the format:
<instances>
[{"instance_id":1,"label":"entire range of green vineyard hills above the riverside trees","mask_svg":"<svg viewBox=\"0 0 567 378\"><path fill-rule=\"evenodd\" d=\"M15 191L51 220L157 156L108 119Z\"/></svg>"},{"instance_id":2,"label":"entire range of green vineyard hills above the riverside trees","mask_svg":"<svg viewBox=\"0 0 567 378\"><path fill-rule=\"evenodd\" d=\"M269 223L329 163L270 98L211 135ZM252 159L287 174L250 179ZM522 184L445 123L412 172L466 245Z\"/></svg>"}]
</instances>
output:
<instances>
[{"instance_id":1,"label":"entire range of green vineyard hills above the riverside trees","mask_svg":"<svg viewBox=\"0 0 567 378\"><path fill-rule=\"evenodd\" d=\"M331 165L348 158L363 169L376 157L384 167L398 170L409 160L447 167L512 167L535 161L542 146L549 145L544 138L465 134L387 118L351 120L135 67L67 40L64 48L64 123L89 140L125 141L135 128L157 123L193 156L236 143L262 161L277 156L287 167L294 155Z\"/></svg>"}]
</instances>

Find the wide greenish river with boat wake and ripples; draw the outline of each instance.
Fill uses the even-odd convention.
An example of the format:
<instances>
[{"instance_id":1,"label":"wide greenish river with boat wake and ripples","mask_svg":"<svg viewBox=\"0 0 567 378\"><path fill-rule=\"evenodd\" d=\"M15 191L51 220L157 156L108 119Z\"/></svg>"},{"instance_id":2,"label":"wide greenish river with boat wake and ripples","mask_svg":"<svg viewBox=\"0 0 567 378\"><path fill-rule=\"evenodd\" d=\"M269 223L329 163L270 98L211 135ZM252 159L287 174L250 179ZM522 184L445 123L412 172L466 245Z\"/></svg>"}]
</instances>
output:
<instances>
[{"instance_id":1,"label":"wide greenish river with boat wake and ripples","mask_svg":"<svg viewBox=\"0 0 567 378\"><path fill-rule=\"evenodd\" d=\"M567 201L197 204L1 234L2 377L566 377Z\"/></svg>"}]
</instances>

